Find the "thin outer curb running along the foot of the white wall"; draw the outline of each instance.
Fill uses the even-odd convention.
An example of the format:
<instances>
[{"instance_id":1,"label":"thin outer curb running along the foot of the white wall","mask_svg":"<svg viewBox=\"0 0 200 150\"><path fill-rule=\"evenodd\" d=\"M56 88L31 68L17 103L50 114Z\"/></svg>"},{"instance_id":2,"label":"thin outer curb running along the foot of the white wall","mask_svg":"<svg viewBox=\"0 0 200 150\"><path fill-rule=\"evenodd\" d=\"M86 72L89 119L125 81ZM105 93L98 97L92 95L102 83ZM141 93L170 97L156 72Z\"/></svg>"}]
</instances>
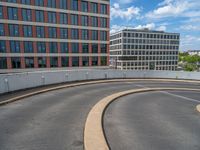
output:
<instances>
[{"instance_id":1,"label":"thin outer curb running along the foot of the white wall","mask_svg":"<svg viewBox=\"0 0 200 150\"><path fill-rule=\"evenodd\" d=\"M21 96L17 96L14 98L10 98L8 100L0 102L0 106L6 105L30 96L34 96L37 94L45 93L45 92L50 92L54 90L59 90L59 89L64 89L64 88L70 88L70 87L75 87L75 86L82 86L82 85L88 85L88 84L98 84L98 83L108 83L108 82L126 82L126 81L160 81L160 82L185 82L185 83L200 83L200 81L195 81L195 80L176 80L176 79L111 79L111 80L96 80L96 81L87 81L87 82L82 82L82 83L74 83L74 84L68 84L68 85L61 85L61 86L55 86L52 88L47 88L44 90L36 91L36 92L31 92L28 94L24 94Z\"/></svg>"}]
</instances>

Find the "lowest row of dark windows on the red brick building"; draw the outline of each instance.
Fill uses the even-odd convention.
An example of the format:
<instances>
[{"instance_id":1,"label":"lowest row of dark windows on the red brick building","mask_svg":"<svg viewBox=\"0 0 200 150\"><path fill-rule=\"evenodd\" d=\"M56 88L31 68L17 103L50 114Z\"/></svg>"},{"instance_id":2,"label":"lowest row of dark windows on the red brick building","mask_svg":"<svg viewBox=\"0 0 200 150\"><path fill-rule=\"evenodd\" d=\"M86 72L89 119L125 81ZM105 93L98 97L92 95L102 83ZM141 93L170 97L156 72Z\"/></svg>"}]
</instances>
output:
<instances>
[{"instance_id":1,"label":"lowest row of dark windows on the red brick building","mask_svg":"<svg viewBox=\"0 0 200 150\"><path fill-rule=\"evenodd\" d=\"M34 68L34 58L33 57L25 57L25 68ZM72 57L72 66L78 67L80 57ZM98 66L98 57L92 57L91 65ZM100 57L101 66L107 65L107 57ZM39 68L47 67L47 58L46 57L38 57L37 63ZM20 57L12 57L11 65L14 69L21 68L21 58ZM89 66L89 57L82 57L82 65L81 66ZM58 67L58 57L50 57L50 67ZM69 57L61 57L61 67L69 67ZM5 57L0 57L0 69L7 69L7 60Z\"/></svg>"}]
</instances>

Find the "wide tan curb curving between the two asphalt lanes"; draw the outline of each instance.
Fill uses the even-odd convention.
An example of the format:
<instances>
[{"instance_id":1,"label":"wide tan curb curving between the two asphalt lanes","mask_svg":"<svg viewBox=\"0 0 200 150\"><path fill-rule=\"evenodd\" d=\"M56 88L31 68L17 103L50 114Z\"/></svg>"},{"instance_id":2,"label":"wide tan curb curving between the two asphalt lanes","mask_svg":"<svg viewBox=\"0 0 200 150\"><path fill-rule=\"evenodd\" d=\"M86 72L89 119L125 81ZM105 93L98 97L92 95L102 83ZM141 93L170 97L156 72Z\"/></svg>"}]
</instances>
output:
<instances>
[{"instance_id":1,"label":"wide tan curb curving between the two asphalt lanes","mask_svg":"<svg viewBox=\"0 0 200 150\"><path fill-rule=\"evenodd\" d=\"M149 91L163 91L163 90L182 90L182 91L197 91L200 89L189 88L143 88L137 90L128 90L118 92L101 99L89 112L84 129L84 149L85 150L109 150L109 146L104 136L102 125L102 118L107 106L115 101L117 98L134 93L142 93ZM200 112L200 105L197 110Z\"/></svg>"}]
</instances>

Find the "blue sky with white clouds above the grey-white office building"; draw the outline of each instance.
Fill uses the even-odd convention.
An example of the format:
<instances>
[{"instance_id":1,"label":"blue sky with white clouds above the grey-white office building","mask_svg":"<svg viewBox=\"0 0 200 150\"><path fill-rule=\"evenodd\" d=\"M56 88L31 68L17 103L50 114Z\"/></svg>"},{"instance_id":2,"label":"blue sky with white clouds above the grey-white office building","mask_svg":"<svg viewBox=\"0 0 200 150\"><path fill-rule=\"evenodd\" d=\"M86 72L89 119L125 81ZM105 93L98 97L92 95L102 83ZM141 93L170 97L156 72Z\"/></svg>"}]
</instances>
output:
<instances>
[{"instance_id":1,"label":"blue sky with white clouds above the grey-white office building","mask_svg":"<svg viewBox=\"0 0 200 150\"><path fill-rule=\"evenodd\" d=\"M200 0L111 0L111 33L149 28L180 33L180 51L200 50Z\"/></svg>"}]
</instances>

